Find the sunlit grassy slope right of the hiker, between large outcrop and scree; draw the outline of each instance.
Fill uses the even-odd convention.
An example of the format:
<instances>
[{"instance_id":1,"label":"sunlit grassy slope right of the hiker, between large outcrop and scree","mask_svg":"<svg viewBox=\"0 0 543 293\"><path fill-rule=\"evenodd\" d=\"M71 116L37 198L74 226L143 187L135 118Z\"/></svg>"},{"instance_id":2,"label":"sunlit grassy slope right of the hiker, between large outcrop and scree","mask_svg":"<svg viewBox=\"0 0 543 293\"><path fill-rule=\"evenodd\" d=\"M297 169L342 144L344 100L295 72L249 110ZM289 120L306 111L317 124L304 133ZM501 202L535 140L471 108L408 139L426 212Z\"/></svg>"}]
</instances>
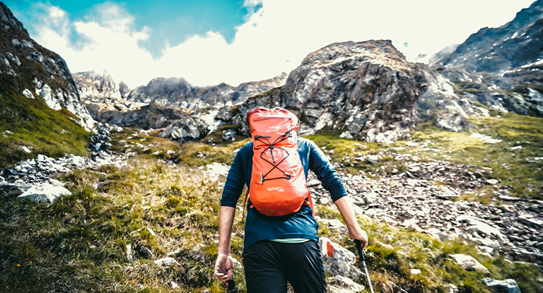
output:
<instances>
[{"instance_id":1,"label":"sunlit grassy slope right of the hiker, between large outcrop and scree","mask_svg":"<svg viewBox=\"0 0 543 293\"><path fill-rule=\"evenodd\" d=\"M512 113L500 117L470 117L472 130L462 133L443 131L432 122L419 124L411 133L411 140L419 145L408 147L405 141L392 144L364 143L355 140L337 138L337 136L308 136L327 150L334 162L341 162L351 171L374 172L385 167L389 174L392 169L398 172L407 170L403 162L392 160L387 153L411 154L422 159L447 160L450 162L472 165L473 168L489 167L491 178L501 180L501 185L510 185L513 196L543 200L543 119ZM479 138L472 138L472 133L491 136L501 143L485 143ZM513 149L518 146L522 148ZM399 150L395 148L402 147ZM381 153L383 158L377 164L356 162L354 157ZM481 193L492 194L492 191Z\"/></svg>"}]
</instances>

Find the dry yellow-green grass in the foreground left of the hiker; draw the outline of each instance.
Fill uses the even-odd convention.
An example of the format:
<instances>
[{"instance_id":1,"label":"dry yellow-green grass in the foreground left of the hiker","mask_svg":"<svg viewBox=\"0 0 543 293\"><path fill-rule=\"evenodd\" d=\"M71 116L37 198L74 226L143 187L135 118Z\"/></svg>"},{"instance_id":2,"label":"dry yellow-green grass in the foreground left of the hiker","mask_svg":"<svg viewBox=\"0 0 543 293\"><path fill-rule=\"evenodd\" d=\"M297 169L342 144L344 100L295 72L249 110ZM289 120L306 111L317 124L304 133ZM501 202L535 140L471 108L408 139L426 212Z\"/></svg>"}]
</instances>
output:
<instances>
[{"instance_id":1,"label":"dry yellow-green grass in the foreground left of the hiker","mask_svg":"<svg viewBox=\"0 0 543 293\"><path fill-rule=\"evenodd\" d=\"M200 170L139 157L127 169L78 170L57 179L73 194L52 205L2 198L3 290L140 292L141 284L168 292L166 282L175 281L183 284L181 292L223 292L213 276L221 192ZM234 232L243 231L240 221L238 213ZM181 265L161 268L142 255L131 263L127 244L145 246L155 258L178 251ZM242 245L234 236L235 258ZM239 269L236 280L243 289Z\"/></svg>"}]
</instances>

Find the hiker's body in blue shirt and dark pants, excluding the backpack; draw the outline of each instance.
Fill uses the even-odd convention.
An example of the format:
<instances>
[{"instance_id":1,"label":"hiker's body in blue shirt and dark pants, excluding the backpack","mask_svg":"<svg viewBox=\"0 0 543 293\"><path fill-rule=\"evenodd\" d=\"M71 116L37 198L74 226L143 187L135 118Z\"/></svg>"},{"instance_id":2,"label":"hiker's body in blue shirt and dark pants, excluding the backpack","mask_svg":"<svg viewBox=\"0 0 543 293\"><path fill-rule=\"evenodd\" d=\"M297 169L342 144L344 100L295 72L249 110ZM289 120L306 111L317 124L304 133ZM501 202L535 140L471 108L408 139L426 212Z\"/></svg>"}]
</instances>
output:
<instances>
[{"instance_id":1,"label":"hiker's body in blue shirt and dark pants, excluding the backpack","mask_svg":"<svg viewBox=\"0 0 543 293\"><path fill-rule=\"evenodd\" d=\"M296 144L303 176L307 179L308 170L315 172L344 217L349 237L363 241L365 248L366 232L358 227L353 210L346 201L347 193L341 177L315 143L296 138ZM243 187L251 186L253 146L253 143L248 143L238 151L223 189L219 215L219 255L215 265L215 275L223 282L230 279L233 270L230 232L235 205ZM243 248L247 292L286 292L287 281L296 293L326 292L318 246L318 225L309 202L310 198L305 198L305 204L296 213L269 216L259 212L249 197L245 207L248 209Z\"/></svg>"}]
</instances>

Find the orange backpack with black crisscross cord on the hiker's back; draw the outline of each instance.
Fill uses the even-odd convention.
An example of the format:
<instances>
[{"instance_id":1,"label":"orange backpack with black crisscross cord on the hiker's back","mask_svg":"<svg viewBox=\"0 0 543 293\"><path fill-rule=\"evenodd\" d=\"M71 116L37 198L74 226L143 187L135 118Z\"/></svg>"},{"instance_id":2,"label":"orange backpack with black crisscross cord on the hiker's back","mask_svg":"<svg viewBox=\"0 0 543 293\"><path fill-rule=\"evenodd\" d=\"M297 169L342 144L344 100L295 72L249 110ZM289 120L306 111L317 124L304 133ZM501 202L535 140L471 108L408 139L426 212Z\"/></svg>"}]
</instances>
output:
<instances>
[{"instance_id":1,"label":"orange backpack with black crisscross cord on the hiker's back","mask_svg":"<svg viewBox=\"0 0 543 293\"><path fill-rule=\"evenodd\" d=\"M247 113L247 121L254 154L245 202L250 196L250 208L274 217L296 213L304 204L313 210L296 143L300 126L296 115L286 109L258 107Z\"/></svg>"}]
</instances>

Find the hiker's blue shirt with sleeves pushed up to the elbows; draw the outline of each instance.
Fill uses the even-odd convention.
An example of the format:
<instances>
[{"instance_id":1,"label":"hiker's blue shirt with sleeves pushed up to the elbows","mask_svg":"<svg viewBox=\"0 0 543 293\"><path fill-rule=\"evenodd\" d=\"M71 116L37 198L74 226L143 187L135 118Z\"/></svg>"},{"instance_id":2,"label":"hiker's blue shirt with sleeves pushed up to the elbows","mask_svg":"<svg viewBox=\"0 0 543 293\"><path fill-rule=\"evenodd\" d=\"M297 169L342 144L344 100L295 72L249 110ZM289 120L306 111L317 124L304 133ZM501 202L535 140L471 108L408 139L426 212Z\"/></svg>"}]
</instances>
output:
<instances>
[{"instance_id":1,"label":"hiker's blue shirt with sleeves pushed up to the elbows","mask_svg":"<svg viewBox=\"0 0 543 293\"><path fill-rule=\"evenodd\" d=\"M321 181L322 187L329 191L332 201L346 196L347 192L343 180L337 174L334 166L330 164L322 150L313 141L300 138L298 153L302 162L305 179L308 179L308 169L315 172ZM252 143L247 143L235 155L234 162L226 177L223 189L221 205L235 208L243 187L250 186L252 174ZM249 199L250 202L250 199ZM247 204L250 206L250 203ZM256 209L247 210L245 220L245 241L243 250L260 240L303 238L318 241L317 221L313 217L313 211L308 205L303 205L300 210L292 215L281 217L269 217L262 215Z\"/></svg>"}]
</instances>

